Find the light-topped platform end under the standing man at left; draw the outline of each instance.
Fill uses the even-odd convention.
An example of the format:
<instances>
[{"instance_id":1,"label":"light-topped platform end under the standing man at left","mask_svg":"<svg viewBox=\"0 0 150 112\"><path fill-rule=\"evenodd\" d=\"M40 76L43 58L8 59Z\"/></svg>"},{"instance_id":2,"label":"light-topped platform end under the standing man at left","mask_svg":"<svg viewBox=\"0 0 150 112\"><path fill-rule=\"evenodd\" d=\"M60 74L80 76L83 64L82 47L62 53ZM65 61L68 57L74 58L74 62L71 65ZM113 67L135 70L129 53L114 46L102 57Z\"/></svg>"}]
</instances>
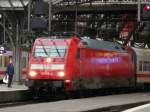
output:
<instances>
[{"instance_id":1,"label":"light-topped platform end under the standing man at left","mask_svg":"<svg viewBox=\"0 0 150 112\"><path fill-rule=\"evenodd\" d=\"M26 98L28 88L24 85L12 84L8 88L6 84L0 84L0 103L19 101Z\"/></svg>"}]
</instances>

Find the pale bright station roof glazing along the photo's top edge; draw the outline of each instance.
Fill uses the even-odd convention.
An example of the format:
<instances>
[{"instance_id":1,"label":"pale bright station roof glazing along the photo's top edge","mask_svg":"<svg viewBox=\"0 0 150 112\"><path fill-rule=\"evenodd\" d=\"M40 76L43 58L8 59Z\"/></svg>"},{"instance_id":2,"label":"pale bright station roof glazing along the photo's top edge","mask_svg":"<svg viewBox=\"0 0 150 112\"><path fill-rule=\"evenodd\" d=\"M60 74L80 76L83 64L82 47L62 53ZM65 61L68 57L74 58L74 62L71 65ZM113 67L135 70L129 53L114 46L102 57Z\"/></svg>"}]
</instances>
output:
<instances>
[{"instance_id":1,"label":"pale bright station roof glazing along the photo's top edge","mask_svg":"<svg viewBox=\"0 0 150 112\"><path fill-rule=\"evenodd\" d=\"M31 0L33 1L33 0ZM100 4L137 4L138 0L43 0L44 2L51 1L53 5L74 5L75 3L87 4L92 3L93 5ZM29 0L0 0L0 8L3 10L15 8L21 9L28 4ZM141 0L141 3L150 3L150 0Z\"/></svg>"}]
</instances>

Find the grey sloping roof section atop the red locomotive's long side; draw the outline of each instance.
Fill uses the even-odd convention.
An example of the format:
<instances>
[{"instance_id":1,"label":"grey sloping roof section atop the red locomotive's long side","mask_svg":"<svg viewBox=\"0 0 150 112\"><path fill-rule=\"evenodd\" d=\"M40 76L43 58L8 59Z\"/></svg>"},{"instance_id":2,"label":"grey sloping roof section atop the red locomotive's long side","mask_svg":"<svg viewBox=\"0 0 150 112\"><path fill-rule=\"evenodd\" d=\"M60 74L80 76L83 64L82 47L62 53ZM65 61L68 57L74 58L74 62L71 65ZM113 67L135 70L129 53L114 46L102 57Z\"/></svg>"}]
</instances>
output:
<instances>
[{"instance_id":1,"label":"grey sloping roof section atop the red locomotive's long side","mask_svg":"<svg viewBox=\"0 0 150 112\"><path fill-rule=\"evenodd\" d=\"M103 49L103 50L111 50L111 51L119 51L119 52L124 51L122 45L120 45L117 42L88 39L88 38L82 38L81 42L85 43L87 48Z\"/></svg>"}]
</instances>

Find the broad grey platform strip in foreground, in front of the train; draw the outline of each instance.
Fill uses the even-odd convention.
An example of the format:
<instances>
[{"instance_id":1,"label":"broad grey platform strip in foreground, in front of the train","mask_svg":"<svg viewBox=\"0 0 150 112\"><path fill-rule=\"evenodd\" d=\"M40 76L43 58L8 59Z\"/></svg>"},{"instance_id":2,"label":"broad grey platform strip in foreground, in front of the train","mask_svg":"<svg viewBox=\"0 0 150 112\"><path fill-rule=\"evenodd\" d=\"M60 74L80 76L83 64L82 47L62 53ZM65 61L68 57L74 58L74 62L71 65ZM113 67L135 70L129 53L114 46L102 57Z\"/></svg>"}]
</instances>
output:
<instances>
[{"instance_id":1,"label":"broad grey platform strip in foreground, in front of the train","mask_svg":"<svg viewBox=\"0 0 150 112\"><path fill-rule=\"evenodd\" d=\"M100 96L94 98L62 100L49 103L7 107L0 112L88 112L110 106L150 101L150 93Z\"/></svg>"}]
</instances>

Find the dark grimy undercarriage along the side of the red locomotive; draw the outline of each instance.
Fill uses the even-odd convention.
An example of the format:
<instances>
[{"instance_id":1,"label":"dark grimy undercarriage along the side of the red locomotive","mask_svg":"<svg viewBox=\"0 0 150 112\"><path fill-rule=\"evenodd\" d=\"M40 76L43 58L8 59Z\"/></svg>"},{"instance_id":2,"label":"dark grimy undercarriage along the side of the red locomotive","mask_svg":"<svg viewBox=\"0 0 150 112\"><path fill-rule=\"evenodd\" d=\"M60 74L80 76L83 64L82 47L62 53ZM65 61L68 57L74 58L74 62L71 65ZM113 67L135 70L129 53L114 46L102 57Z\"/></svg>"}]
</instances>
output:
<instances>
[{"instance_id":1,"label":"dark grimy undercarriage along the side of the red locomotive","mask_svg":"<svg viewBox=\"0 0 150 112\"><path fill-rule=\"evenodd\" d=\"M73 90L132 87L134 84L134 77L76 77L73 80Z\"/></svg>"}]
</instances>

